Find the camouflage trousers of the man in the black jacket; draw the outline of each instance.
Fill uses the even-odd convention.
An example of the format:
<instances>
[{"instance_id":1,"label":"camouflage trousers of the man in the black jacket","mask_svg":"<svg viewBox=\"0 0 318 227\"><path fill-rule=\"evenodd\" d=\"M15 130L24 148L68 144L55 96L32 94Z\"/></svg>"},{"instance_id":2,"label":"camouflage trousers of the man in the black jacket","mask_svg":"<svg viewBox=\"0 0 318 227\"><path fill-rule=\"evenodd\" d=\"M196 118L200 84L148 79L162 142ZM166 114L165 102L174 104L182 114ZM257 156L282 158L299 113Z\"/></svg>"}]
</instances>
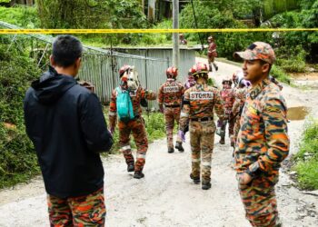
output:
<instances>
[{"instance_id":1,"label":"camouflage trousers of the man in the black jacket","mask_svg":"<svg viewBox=\"0 0 318 227\"><path fill-rule=\"evenodd\" d=\"M60 199L47 195L51 226L104 226L104 188L88 195Z\"/></svg>"}]
</instances>

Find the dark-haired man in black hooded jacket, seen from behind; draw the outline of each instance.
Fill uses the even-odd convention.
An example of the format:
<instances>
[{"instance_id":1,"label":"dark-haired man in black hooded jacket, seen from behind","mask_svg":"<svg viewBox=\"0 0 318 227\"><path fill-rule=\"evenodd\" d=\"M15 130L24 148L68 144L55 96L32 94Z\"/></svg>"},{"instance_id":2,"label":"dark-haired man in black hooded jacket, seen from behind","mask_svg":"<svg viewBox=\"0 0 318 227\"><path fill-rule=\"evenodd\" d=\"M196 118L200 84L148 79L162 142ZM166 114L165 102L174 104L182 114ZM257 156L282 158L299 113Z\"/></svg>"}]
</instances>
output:
<instances>
[{"instance_id":1,"label":"dark-haired man in black hooded jacket, seen from behind","mask_svg":"<svg viewBox=\"0 0 318 227\"><path fill-rule=\"evenodd\" d=\"M97 96L75 81L82 51L74 36L57 36L52 66L25 94L26 133L45 181L51 226L104 226L99 153L110 150L113 138Z\"/></svg>"}]
</instances>

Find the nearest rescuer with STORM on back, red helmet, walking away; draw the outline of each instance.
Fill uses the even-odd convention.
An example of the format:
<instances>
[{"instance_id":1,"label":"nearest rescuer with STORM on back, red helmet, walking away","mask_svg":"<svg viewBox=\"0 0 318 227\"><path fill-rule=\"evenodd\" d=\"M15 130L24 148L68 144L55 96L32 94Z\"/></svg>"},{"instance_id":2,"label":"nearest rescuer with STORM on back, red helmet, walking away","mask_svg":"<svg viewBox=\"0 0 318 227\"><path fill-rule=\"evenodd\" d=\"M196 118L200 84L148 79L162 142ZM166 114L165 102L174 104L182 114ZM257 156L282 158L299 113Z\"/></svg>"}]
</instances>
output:
<instances>
[{"instance_id":1,"label":"nearest rescuer with STORM on back, red helmet, walking away","mask_svg":"<svg viewBox=\"0 0 318 227\"><path fill-rule=\"evenodd\" d=\"M192 173L190 178L194 183L200 183L202 189L211 188L211 156L214 149L214 109L223 118L224 110L220 92L207 85L208 67L198 63L192 68L196 84L185 91L184 107L180 115L179 134L184 139L184 127L190 118L190 143L192 151ZM202 162L201 162L202 159ZM200 173L200 163L202 173Z\"/></svg>"}]
</instances>

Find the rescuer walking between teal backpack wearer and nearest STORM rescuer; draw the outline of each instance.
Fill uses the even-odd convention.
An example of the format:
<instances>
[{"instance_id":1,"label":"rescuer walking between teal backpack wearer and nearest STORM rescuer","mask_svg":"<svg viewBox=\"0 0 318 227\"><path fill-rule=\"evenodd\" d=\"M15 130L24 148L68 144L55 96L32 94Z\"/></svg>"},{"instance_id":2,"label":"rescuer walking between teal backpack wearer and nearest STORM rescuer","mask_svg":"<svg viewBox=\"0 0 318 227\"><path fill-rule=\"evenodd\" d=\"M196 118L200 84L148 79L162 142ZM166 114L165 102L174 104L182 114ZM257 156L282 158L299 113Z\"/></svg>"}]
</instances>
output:
<instances>
[{"instance_id":1,"label":"rescuer walking between teal backpack wearer and nearest STORM rescuer","mask_svg":"<svg viewBox=\"0 0 318 227\"><path fill-rule=\"evenodd\" d=\"M184 95L184 86L175 81L178 75L178 69L169 67L166 70L167 80L159 88L158 103L161 113L164 113L165 132L167 136L168 153L174 153L174 120L179 123L181 112L181 101ZM179 152L184 152L182 140L177 135L175 148Z\"/></svg>"}]
</instances>

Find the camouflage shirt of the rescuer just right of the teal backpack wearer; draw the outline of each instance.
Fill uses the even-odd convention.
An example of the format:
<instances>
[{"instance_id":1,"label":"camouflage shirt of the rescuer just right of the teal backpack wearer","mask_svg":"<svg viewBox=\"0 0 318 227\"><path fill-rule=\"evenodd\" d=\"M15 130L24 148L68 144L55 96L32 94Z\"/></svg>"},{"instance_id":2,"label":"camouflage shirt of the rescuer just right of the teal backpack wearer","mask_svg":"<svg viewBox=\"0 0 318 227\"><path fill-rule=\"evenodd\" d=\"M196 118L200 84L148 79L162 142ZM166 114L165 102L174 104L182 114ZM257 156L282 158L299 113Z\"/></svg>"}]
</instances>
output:
<instances>
[{"instance_id":1,"label":"camouflage shirt of the rescuer just right of the teal backpack wearer","mask_svg":"<svg viewBox=\"0 0 318 227\"><path fill-rule=\"evenodd\" d=\"M180 105L184 95L184 86L173 79L167 79L159 88L159 105Z\"/></svg>"}]
</instances>

